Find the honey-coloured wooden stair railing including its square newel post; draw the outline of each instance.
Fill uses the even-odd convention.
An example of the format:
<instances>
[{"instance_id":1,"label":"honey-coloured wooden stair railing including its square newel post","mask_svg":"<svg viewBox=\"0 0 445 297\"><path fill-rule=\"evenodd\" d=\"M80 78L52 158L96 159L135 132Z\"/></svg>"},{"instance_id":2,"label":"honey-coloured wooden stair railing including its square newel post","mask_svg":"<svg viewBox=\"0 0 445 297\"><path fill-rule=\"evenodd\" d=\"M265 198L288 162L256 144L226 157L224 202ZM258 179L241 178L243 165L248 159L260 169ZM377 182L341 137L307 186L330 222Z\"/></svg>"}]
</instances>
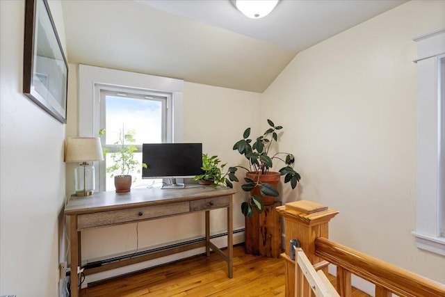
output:
<instances>
[{"instance_id":1,"label":"honey-coloured wooden stair railing including its square newel post","mask_svg":"<svg viewBox=\"0 0 445 297\"><path fill-rule=\"evenodd\" d=\"M445 297L445 284L327 239L329 221L339 211L305 200L289 202L276 209L284 218L285 240L291 243L281 255L286 266L286 297L318 296L313 286L323 277L315 273L316 277L311 268L302 267L313 266L315 271L327 273L330 263L337 265L337 292L343 297L351 296L351 274L375 284L376 297L391 297L392 293L400 297ZM302 260L301 265L296 264L298 258L294 260L291 255L295 241L304 250L304 253L298 251L300 258L306 257L311 265ZM302 273L302 269L307 269L307 273ZM309 277L309 282L302 275Z\"/></svg>"}]
</instances>

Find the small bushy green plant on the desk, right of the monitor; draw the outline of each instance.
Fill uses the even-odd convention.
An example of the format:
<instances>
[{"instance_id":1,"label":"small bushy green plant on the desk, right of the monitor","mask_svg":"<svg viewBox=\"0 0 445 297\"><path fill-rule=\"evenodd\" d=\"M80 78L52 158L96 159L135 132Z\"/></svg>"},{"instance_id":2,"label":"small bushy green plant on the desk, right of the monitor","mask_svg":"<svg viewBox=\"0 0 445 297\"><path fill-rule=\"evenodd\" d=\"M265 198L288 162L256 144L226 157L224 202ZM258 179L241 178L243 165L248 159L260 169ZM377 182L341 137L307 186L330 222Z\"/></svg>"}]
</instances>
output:
<instances>
[{"instance_id":1,"label":"small bushy green plant on the desk, right of the monitor","mask_svg":"<svg viewBox=\"0 0 445 297\"><path fill-rule=\"evenodd\" d=\"M207 184L212 187L225 186L225 175L223 176L222 171L227 163L219 165L220 163L221 160L218 159L218 156L209 157L207 154L202 154L202 175L197 175L193 179L197 180L199 184Z\"/></svg>"}]
</instances>

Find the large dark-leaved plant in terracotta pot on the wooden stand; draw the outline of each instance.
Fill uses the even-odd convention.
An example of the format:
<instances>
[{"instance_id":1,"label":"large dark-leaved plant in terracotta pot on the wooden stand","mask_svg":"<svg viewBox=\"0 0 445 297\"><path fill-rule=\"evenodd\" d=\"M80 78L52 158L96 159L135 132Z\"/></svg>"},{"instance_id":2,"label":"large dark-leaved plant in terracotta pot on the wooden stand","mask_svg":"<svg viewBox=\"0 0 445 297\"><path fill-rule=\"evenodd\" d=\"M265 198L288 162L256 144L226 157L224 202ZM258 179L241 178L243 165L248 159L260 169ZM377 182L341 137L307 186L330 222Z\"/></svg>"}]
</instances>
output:
<instances>
[{"instance_id":1,"label":"large dark-leaved plant in terracotta pot on the wooden stand","mask_svg":"<svg viewBox=\"0 0 445 297\"><path fill-rule=\"evenodd\" d=\"M280 195L277 185L280 182L280 176L284 175L284 183L291 183L292 188L296 188L300 181L300 174L293 170L295 158L293 154L287 152L276 152L272 156L270 146L278 141L277 130L281 130L282 126L275 126L271 120L267 120L270 126L263 135L257 137L252 144L250 136L250 128L245 129L243 139L237 141L233 150L238 150L243 154L249 162L249 168L243 166L230 167L226 184L230 188L233 187L231 182L238 182L235 172L238 168L246 170L245 184L241 186L243 191L250 192L247 202L241 204L241 212L244 216L253 216L253 209L257 209L259 213L263 211L264 204L272 204L275 197ZM279 172L273 172L273 161L282 161L284 167Z\"/></svg>"}]
</instances>

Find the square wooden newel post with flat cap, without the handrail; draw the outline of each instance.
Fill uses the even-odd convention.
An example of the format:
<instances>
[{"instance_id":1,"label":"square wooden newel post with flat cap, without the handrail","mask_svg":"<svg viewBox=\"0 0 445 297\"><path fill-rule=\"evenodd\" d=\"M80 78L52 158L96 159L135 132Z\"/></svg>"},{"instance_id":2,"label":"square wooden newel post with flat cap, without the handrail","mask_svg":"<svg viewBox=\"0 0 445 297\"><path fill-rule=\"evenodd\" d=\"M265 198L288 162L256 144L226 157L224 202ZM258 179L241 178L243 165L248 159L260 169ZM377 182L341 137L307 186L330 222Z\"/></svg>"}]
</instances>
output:
<instances>
[{"instance_id":1,"label":"square wooden newel post with flat cap, without the handrail","mask_svg":"<svg viewBox=\"0 0 445 297\"><path fill-rule=\"evenodd\" d=\"M282 257L286 259L286 297L291 297L295 294L296 277L295 262L289 261L291 239L300 241L300 247L312 264L321 262L321 259L315 255L315 239L321 236L329 238L329 221L339 211L306 200L289 202L276 209L284 218L286 252L282 254ZM327 266L321 269L327 274Z\"/></svg>"}]
</instances>

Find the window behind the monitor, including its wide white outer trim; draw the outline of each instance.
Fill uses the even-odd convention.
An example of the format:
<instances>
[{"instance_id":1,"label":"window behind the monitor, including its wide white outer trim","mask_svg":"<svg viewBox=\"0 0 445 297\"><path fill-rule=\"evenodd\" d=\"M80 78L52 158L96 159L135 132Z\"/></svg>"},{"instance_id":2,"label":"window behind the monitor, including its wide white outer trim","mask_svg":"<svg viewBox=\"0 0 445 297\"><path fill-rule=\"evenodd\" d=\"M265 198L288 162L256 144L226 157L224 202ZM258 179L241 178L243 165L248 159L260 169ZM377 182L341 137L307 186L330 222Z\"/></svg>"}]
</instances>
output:
<instances>
[{"instance_id":1,"label":"window behind the monitor, including its wide white outer trim","mask_svg":"<svg viewBox=\"0 0 445 297\"><path fill-rule=\"evenodd\" d=\"M113 149L123 123L124 129L135 126L140 153L144 142L183 142L183 89L180 79L79 64L79 136L97 137L105 128L103 145ZM96 191L114 189L105 182L105 162L95 162L95 168Z\"/></svg>"}]
</instances>

